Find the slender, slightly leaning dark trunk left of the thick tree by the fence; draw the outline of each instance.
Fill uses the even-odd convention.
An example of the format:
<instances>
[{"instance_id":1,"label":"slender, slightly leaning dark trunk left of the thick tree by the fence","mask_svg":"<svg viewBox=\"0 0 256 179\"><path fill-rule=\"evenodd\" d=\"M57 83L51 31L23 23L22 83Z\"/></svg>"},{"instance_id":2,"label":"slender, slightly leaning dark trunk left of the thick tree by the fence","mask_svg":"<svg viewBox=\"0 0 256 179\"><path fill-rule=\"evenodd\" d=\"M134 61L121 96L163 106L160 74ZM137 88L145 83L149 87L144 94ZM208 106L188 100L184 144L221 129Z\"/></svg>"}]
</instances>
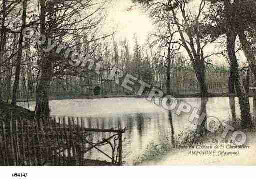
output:
<instances>
[{"instance_id":1,"label":"slender, slightly leaning dark trunk left of the thick tree by the fence","mask_svg":"<svg viewBox=\"0 0 256 179\"><path fill-rule=\"evenodd\" d=\"M17 90L19 87L20 65L21 65L21 59L22 59L23 38L24 38L22 32L26 25L26 7L27 7L27 0L23 0L22 27L19 35L19 40L18 40L18 53L17 53L16 70L15 70L15 81L13 84L13 92L12 92L12 100L11 100L12 105L17 104Z\"/></svg>"}]
</instances>

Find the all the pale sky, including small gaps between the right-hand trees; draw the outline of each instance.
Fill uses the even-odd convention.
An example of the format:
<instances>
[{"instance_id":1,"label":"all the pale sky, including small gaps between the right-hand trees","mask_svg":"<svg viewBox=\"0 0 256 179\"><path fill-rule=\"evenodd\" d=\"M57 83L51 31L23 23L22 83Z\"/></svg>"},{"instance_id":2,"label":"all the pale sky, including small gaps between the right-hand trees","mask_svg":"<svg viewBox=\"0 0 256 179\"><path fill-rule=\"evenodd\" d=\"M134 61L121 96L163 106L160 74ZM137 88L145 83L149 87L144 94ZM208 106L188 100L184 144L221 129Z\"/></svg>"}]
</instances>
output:
<instances>
[{"instance_id":1,"label":"all the pale sky, including small gaps between the right-hand trees","mask_svg":"<svg viewBox=\"0 0 256 179\"><path fill-rule=\"evenodd\" d=\"M200 0L194 0L192 9L198 9ZM146 44L148 33L154 30L152 21L148 15L144 12L143 8L131 0L112 0L108 7L108 16L106 19L105 27L108 30L116 30L115 38L117 40L128 39L130 45L134 44L133 35L136 33L138 41L141 45ZM205 54L212 53L214 46L209 46ZM187 53L185 50L182 52L185 56ZM237 57L240 59L240 64L244 64L246 61L242 52L237 53ZM227 60L223 57L214 56L212 60L215 64L228 65Z\"/></svg>"}]
</instances>

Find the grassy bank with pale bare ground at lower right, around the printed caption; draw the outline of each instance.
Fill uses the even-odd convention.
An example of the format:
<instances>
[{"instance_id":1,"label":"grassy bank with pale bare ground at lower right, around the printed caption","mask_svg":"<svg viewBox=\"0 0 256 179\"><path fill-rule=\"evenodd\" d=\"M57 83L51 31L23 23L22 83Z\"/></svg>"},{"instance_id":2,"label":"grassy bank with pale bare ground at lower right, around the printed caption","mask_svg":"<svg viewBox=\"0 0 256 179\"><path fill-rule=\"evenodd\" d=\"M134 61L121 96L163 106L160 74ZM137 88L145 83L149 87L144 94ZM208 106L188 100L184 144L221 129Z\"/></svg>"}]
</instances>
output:
<instances>
[{"instance_id":1,"label":"grassy bank with pale bare ground at lower right, around the printed caption","mask_svg":"<svg viewBox=\"0 0 256 179\"><path fill-rule=\"evenodd\" d=\"M248 155L256 156L256 127L253 129L241 129L240 127L240 119L230 120L227 123L235 128L236 130L241 130L246 133L247 141L244 145L249 145L250 150L254 153L248 152ZM253 119L254 126L256 126L256 118ZM166 136L160 143L156 144L155 142L150 142L146 148L144 149L143 154L139 155L134 161L133 165L173 165L173 164L211 164L216 163L219 164L218 161L221 160L221 156L210 156L211 160L208 161L208 155L189 155L188 153L196 149L197 145L212 145L214 140L226 141L221 138L221 134L224 131L224 127L221 125L220 128L212 133L208 132L205 136L199 136L197 131L181 131L177 134L174 139L174 144L171 141L171 136ZM228 133L225 139L230 141L231 132ZM227 145L227 143L220 143L222 145ZM199 149L200 150L200 149ZM237 149L236 149L237 150ZM246 156L247 151L243 150L244 156ZM183 157L186 156L186 157ZM188 160L189 158L193 158L193 160ZM202 159L201 159L202 158ZM250 157L249 157L250 158ZM237 158L239 160L240 158ZM255 158L252 158L255 159ZM222 161L225 163L225 161ZM232 164L230 159L227 159L227 164ZM239 162L239 161L238 161ZM254 163L256 161L250 160L248 164ZM238 163L239 164L239 163ZM237 165L238 165L237 164Z\"/></svg>"}]
</instances>

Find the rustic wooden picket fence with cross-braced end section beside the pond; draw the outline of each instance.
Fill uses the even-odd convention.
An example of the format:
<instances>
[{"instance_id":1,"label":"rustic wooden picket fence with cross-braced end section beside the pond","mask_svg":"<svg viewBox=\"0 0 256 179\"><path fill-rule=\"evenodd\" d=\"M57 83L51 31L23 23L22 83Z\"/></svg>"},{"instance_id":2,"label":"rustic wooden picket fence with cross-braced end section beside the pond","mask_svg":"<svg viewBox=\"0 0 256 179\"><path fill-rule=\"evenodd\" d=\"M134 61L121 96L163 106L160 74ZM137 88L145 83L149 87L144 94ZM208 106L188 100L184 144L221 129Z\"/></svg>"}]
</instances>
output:
<instances>
[{"instance_id":1,"label":"rustic wooden picket fence with cross-braced end section beside the pond","mask_svg":"<svg viewBox=\"0 0 256 179\"><path fill-rule=\"evenodd\" d=\"M108 137L95 142L90 140L93 132ZM78 118L25 119L1 114L0 164L122 165L122 133L124 130L85 128ZM110 154L101 146L109 146ZM85 159L92 149L109 160Z\"/></svg>"}]
</instances>

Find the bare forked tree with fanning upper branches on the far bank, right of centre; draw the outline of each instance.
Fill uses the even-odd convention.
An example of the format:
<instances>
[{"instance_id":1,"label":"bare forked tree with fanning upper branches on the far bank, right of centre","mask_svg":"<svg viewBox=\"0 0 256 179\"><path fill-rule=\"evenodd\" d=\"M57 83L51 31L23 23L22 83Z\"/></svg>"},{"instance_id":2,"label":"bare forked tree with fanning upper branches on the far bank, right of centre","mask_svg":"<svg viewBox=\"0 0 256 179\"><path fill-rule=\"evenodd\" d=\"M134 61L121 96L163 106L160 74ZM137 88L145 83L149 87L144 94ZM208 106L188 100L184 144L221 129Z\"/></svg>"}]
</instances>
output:
<instances>
[{"instance_id":1,"label":"bare forked tree with fanning upper branches on the far bank, right of centre","mask_svg":"<svg viewBox=\"0 0 256 179\"><path fill-rule=\"evenodd\" d=\"M192 12L189 8L190 0L165 0L164 2L160 0L134 1L146 4L147 8L162 8L165 11L170 11L174 24L176 25L175 28L180 36L179 41L176 41L176 43L185 49L192 62L199 82L201 96L207 96L208 89L205 78L205 60L217 53L206 54L204 51L209 44L216 40L215 38L207 38L202 34L204 26L200 21L203 18L206 1L200 1L196 12Z\"/></svg>"}]
</instances>

